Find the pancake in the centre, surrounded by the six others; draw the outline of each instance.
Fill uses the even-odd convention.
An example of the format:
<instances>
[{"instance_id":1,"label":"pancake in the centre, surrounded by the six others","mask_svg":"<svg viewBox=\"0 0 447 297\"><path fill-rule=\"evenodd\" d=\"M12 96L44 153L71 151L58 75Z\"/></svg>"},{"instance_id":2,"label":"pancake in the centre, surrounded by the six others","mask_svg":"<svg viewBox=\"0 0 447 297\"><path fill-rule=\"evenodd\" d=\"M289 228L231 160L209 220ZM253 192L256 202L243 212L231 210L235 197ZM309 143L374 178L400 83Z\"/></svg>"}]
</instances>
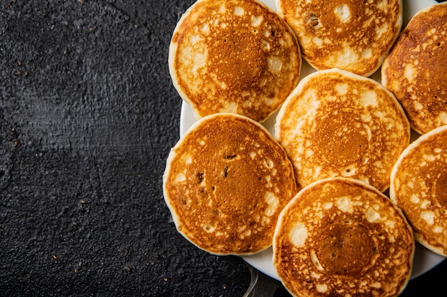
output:
<instances>
[{"instance_id":1,"label":"pancake in the centre, surrounded by the six others","mask_svg":"<svg viewBox=\"0 0 447 297\"><path fill-rule=\"evenodd\" d=\"M279 110L275 132L298 187L351 177L383 192L410 142L410 125L393 94L375 80L338 69L301 80Z\"/></svg>"}]
</instances>

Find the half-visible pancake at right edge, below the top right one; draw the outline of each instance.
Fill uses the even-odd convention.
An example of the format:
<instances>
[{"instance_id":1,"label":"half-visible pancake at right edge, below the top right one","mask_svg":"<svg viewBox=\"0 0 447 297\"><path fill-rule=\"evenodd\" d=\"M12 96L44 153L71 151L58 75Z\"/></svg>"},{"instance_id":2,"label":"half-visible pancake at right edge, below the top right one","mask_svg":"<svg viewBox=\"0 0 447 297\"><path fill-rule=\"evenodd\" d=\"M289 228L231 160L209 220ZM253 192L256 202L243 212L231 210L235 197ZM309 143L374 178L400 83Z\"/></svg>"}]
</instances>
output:
<instances>
[{"instance_id":1,"label":"half-visible pancake at right edge, below the top right one","mask_svg":"<svg viewBox=\"0 0 447 297\"><path fill-rule=\"evenodd\" d=\"M447 126L403 151L391 174L390 198L406 215L416 241L447 256Z\"/></svg>"}]
</instances>

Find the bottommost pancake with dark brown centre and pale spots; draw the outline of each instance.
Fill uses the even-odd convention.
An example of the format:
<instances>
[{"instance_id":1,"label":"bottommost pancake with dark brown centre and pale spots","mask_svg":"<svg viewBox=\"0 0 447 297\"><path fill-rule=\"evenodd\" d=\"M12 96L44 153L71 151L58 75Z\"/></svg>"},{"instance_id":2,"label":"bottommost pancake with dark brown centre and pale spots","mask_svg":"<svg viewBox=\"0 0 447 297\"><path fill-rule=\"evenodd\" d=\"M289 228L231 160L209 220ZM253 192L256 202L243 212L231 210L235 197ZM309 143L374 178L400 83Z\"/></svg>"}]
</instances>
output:
<instances>
[{"instance_id":1,"label":"bottommost pancake with dark brown centre and pale spots","mask_svg":"<svg viewBox=\"0 0 447 297\"><path fill-rule=\"evenodd\" d=\"M294 296L398 296L411 276L411 227L377 189L343 177L298 192L273 236L273 266Z\"/></svg>"}]
</instances>

